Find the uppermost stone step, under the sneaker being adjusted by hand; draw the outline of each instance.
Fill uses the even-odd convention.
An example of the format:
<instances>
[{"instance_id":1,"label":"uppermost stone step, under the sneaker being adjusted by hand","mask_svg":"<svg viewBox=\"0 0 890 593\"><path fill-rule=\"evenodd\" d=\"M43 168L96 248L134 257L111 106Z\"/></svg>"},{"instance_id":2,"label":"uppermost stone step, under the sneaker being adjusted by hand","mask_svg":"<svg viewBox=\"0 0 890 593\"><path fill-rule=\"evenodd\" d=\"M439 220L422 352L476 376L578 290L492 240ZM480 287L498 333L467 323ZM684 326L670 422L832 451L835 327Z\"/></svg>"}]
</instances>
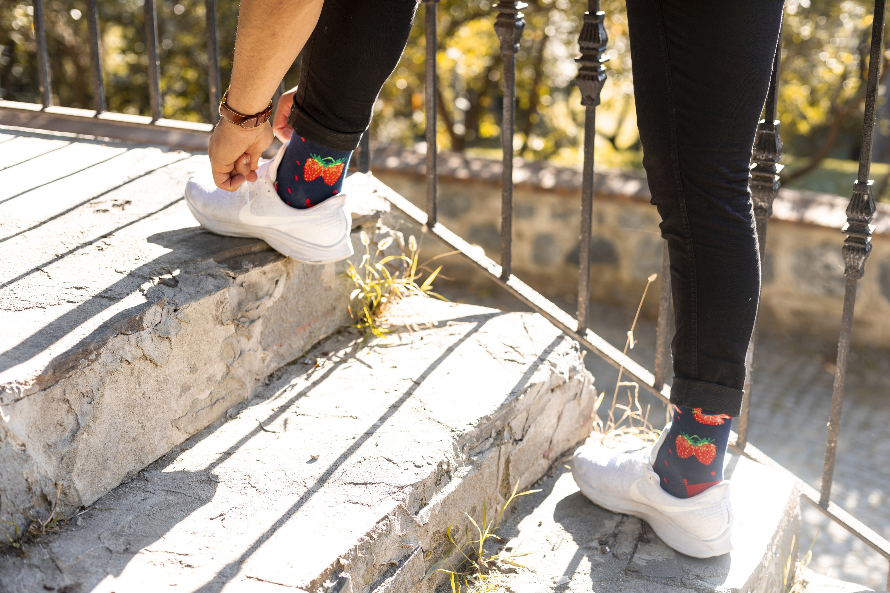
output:
<instances>
[{"instance_id":1,"label":"uppermost stone step, under the sneaker being adjusted by hand","mask_svg":"<svg viewBox=\"0 0 890 593\"><path fill-rule=\"evenodd\" d=\"M60 485L63 512L89 505L350 322L344 264L198 228L205 155L0 132L0 519ZM361 181L353 227L383 238Z\"/></svg>"}]
</instances>

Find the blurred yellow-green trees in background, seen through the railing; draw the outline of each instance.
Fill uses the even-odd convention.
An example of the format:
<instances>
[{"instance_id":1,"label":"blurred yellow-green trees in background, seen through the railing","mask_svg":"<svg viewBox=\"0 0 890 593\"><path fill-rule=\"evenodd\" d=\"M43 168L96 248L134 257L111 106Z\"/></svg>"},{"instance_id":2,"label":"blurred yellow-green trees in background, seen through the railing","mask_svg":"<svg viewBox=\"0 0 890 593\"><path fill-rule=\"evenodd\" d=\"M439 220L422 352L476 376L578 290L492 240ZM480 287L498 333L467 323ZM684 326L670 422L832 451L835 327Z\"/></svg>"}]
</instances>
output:
<instances>
[{"instance_id":1,"label":"blurred yellow-green trees in background, seen through the railing","mask_svg":"<svg viewBox=\"0 0 890 593\"><path fill-rule=\"evenodd\" d=\"M109 109L149 115L143 34L144 0L99 0L102 58ZM85 0L45 0L53 101L93 107ZM609 33L608 80L597 110L597 163L639 167L634 88L624 0L602 0ZM779 116L789 154L786 181L797 182L825 159L858 156L872 2L787 0ZM578 31L587 2L530 0L516 56L515 149L528 159L578 164L584 111L574 85ZM424 4L418 9L425 10ZM238 4L219 3L223 88L228 84ZM501 57L490 0L442 0L438 5L437 97L441 147L497 156L501 128ZM0 93L37 102L33 8L0 0ZM158 44L164 116L209 121L203 0L158 3ZM375 106L379 143L424 140L424 19ZM883 76L883 75L882 75ZM296 83L298 66L286 85ZM876 160L890 161L890 106L881 98ZM837 169L837 167L835 167ZM842 167L841 167L842 168ZM838 169L839 170L839 169ZM886 181L882 184L886 187Z\"/></svg>"}]
</instances>

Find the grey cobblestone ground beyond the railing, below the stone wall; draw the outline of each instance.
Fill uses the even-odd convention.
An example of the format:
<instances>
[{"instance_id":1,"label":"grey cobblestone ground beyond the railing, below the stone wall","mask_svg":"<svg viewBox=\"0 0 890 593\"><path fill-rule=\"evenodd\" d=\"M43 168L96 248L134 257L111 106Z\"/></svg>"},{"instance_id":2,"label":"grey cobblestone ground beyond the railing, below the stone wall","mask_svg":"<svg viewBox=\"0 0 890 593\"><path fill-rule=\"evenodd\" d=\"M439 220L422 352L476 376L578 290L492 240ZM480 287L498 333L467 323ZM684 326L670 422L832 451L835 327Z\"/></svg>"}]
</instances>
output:
<instances>
[{"instance_id":1,"label":"grey cobblestone ground beyond the railing, below the stone wall","mask_svg":"<svg viewBox=\"0 0 890 593\"><path fill-rule=\"evenodd\" d=\"M498 286L466 288L440 285L451 300L498 309L525 309ZM574 310L568 302L557 303ZM616 346L623 346L634 311L594 304L591 327ZM628 354L647 368L655 356L655 323L637 322L638 343ZM756 343L754 388L749 440L817 489L825 453L826 423L831 405L836 344L808 341L799 336L761 333ZM611 393L618 371L599 357L588 355L597 389ZM668 374L669 376L669 374ZM664 425L664 410L654 397L641 391L643 407L651 405L650 419ZM851 354L844 412L837 444L837 466L831 499L854 517L890 538L890 352L857 350ZM813 543L810 564L817 573L885 590L887 562L818 509L804 504L802 549Z\"/></svg>"}]
</instances>

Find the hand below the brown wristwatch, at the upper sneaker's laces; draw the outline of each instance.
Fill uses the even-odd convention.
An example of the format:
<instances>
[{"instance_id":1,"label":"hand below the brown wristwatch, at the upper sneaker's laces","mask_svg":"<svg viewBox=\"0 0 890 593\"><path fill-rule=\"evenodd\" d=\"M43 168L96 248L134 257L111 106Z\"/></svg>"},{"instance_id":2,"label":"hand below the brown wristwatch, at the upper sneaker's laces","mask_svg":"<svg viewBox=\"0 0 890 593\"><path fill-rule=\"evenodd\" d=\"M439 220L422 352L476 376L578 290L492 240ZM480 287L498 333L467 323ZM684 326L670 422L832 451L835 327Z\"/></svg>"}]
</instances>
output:
<instances>
[{"instance_id":1,"label":"hand below the brown wristwatch, at the upper sneaker's laces","mask_svg":"<svg viewBox=\"0 0 890 593\"><path fill-rule=\"evenodd\" d=\"M246 129L221 118L207 145L216 187L235 191L245 181L255 181L260 156L271 143L269 122Z\"/></svg>"}]
</instances>

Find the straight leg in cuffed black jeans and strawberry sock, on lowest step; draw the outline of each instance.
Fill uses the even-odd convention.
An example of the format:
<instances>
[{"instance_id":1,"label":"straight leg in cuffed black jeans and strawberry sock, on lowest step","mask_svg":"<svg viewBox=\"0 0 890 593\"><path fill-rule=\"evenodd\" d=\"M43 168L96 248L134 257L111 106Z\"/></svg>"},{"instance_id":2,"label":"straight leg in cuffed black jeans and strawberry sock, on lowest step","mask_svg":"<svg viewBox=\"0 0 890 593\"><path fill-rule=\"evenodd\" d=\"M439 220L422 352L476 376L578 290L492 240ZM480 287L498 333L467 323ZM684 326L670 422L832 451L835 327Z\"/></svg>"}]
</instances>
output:
<instances>
[{"instance_id":1,"label":"straight leg in cuffed black jeans and strawberry sock, on lowest step","mask_svg":"<svg viewBox=\"0 0 890 593\"><path fill-rule=\"evenodd\" d=\"M740 412L760 294L748 165L781 14L781 0L627 0L643 166L676 316L675 416L654 469L682 498L722 479L724 419Z\"/></svg>"}]
</instances>

